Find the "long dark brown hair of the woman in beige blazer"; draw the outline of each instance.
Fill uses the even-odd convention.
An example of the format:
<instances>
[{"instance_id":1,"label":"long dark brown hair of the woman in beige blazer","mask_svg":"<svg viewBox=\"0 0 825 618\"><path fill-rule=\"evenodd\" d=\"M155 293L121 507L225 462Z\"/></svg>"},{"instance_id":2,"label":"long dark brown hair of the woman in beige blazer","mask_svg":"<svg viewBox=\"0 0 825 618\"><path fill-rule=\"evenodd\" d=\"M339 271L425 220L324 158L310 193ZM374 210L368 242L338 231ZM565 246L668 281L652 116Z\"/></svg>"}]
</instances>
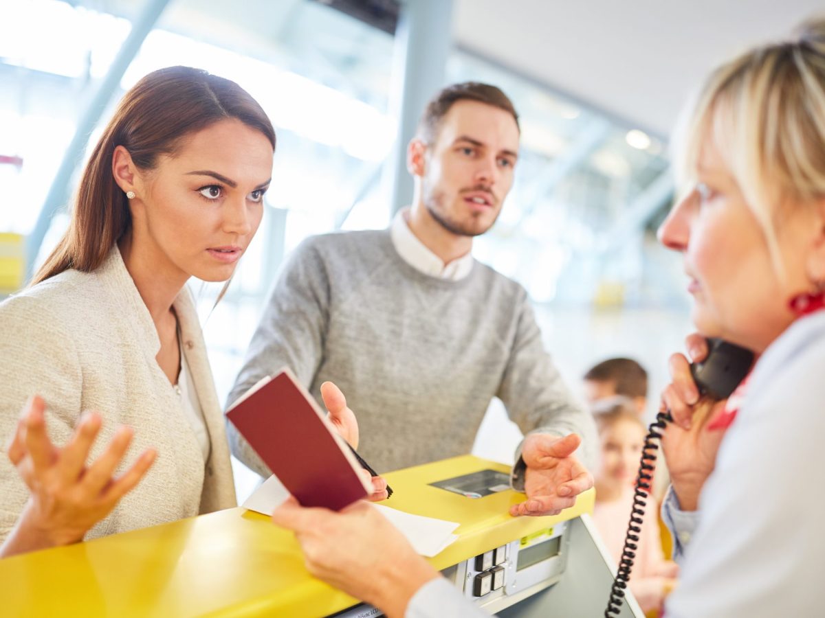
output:
<instances>
[{"instance_id":1,"label":"long dark brown hair of the woman in beige blazer","mask_svg":"<svg viewBox=\"0 0 825 618\"><path fill-rule=\"evenodd\" d=\"M115 147L125 147L141 170L152 170L158 157L174 154L183 138L229 118L259 130L275 149L275 129L266 112L229 79L198 68L169 67L135 84L83 170L67 232L31 284L68 269L97 269L129 232L129 203L111 171Z\"/></svg>"}]
</instances>

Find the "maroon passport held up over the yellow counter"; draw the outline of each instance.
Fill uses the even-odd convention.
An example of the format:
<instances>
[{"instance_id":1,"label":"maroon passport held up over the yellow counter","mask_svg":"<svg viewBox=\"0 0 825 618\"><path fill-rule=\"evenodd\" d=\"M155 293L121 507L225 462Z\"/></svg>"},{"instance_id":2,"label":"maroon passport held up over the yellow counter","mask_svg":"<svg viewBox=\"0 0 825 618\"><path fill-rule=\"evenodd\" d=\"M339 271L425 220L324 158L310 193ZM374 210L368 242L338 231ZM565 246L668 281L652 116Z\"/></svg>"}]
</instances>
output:
<instances>
[{"instance_id":1,"label":"maroon passport held up over the yellow counter","mask_svg":"<svg viewBox=\"0 0 825 618\"><path fill-rule=\"evenodd\" d=\"M340 511L372 490L347 443L289 369L252 386L226 415L305 507Z\"/></svg>"}]
</instances>

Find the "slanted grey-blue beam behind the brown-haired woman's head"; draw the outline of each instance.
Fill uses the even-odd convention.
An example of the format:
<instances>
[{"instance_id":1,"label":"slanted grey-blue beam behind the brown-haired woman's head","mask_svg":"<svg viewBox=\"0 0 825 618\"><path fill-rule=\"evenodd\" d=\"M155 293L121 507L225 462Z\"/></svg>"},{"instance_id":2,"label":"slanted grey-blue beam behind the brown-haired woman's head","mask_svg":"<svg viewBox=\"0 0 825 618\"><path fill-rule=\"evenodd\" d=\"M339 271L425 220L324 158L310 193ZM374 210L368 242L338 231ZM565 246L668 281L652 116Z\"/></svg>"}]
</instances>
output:
<instances>
[{"instance_id":1,"label":"slanted grey-blue beam behind the brown-haired woman's head","mask_svg":"<svg viewBox=\"0 0 825 618\"><path fill-rule=\"evenodd\" d=\"M40 215L35 223L35 229L26 238L26 279L31 279L34 272L35 258L40 251L43 237L49 231L52 217L68 202L69 183L78 163L81 162L83 154L86 152L89 134L92 133L103 111L106 110L106 105L109 104L111 96L120 85L120 80L123 78L126 68L129 68L134 56L140 49L140 45L143 44L146 35L152 30L168 3L169 0L146 0L140 15L132 23L129 36L126 37L115 60L111 63L106 77L103 78L92 101L89 102L86 110L78 119L78 127L74 132L74 137L71 143L68 144L63 161L60 162L57 174L52 180L43 208L40 208Z\"/></svg>"}]
</instances>

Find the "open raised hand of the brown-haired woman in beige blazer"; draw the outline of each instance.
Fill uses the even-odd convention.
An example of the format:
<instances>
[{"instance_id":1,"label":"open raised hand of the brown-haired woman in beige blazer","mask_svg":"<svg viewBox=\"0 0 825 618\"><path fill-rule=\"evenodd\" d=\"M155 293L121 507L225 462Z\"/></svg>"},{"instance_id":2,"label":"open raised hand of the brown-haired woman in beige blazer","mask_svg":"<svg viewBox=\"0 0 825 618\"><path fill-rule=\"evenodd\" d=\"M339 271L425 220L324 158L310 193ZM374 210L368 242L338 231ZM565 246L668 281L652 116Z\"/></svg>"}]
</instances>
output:
<instances>
[{"instance_id":1,"label":"open raised hand of the brown-haired woman in beige blazer","mask_svg":"<svg viewBox=\"0 0 825 618\"><path fill-rule=\"evenodd\" d=\"M7 453L31 495L0 557L82 541L143 478L156 457L152 449L115 477L132 439L127 427L87 464L100 428L98 414L83 414L68 443L56 447L46 433L44 401L34 396L27 402Z\"/></svg>"}]
</instances>

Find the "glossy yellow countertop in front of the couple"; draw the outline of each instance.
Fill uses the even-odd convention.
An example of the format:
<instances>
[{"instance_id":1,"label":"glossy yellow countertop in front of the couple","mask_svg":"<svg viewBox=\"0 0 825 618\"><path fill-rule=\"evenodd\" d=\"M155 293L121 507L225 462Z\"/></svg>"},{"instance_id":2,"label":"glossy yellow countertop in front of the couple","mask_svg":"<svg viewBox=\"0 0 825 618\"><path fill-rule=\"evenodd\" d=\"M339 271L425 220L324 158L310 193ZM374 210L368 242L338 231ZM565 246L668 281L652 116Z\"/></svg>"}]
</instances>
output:
<instances>
[{"instance_id":1,"label":"glossy yellow countertop in front of the couple","mask_svg":"<svg viewBox=\"0 0 825 618\"><path fill-rule=\"evenodd\" d=\"M461 525L436 569L592 512L594 493L556 517L510 517L512 490L469 499L427 485L507 466L474 456L385 475L387 506ZM312 578L292 533L232 508L0 560L2 616L328 616L356 599Z\"/></svg>"}]
</instances>

